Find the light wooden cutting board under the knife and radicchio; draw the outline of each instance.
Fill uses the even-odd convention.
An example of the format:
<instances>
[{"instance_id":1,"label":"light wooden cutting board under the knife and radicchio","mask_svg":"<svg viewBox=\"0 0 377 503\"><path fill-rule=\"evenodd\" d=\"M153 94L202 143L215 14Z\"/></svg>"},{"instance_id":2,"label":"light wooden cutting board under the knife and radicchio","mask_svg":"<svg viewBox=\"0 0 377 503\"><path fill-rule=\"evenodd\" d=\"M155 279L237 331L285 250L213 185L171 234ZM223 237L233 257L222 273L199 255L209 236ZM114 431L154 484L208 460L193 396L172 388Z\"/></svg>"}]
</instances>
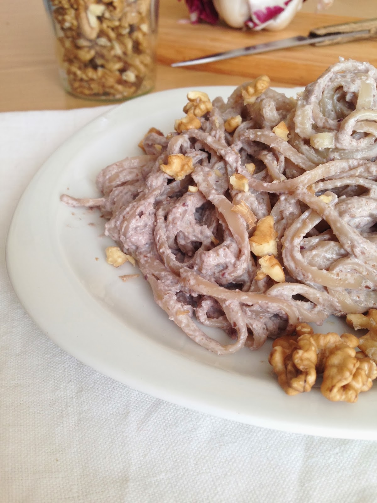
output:
<instances>
[{"instance_id":1,"label":"light wooden cutting board under the knife and radicchio","mask_svg":"<svg viewBox=\"0 0 377 503\"><path fill-rule=\"evenodd\" d=\"M278 32L236 30L225 25L183 23L187 18L184 2L160 2L157 60L163 64L205 56L237 47L272 40L307 35L313 28L358 20L328 14L298 13L292 23ZM192 69L242 75L254 78L267 74L272 81L305 86L315 80L339 56L369 61L377 66L377 38L326 47L304 46L279 51L226 59L216 63L191 66Z\"/></svg>"}]
</instances>

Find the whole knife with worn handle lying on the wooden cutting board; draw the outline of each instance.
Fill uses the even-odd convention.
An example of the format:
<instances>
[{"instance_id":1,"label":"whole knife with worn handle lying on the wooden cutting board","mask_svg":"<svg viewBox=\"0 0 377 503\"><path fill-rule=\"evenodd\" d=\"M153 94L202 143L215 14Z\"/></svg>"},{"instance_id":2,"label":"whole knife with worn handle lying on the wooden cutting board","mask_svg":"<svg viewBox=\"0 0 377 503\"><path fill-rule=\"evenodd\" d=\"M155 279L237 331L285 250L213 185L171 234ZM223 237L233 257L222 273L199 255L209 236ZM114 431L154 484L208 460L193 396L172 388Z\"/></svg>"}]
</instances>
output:
<instances>
[{"instance_id":1,"label":"whole knife with worn handle lying on the wooden cutting board","mask_svg":"<svg viewBox=\"0 0 377 503\"><path fill-rule=\"evenodd\" d=\"M261 52L276 51L287 47L298 47L301 45L330 45L342 44L354 40L365 40L377 37L377 18L364 21L353 21L340 25L323 26L312 30L307 37L298 35L297 37L285 38L267 42L266 44L250 45L230 51L217 52L201 58L189 59L172 63L171 66L190 66L193 64L212 63L222 59L236 58L248 54L260 54Z\"/></svg>"}]
</instances>

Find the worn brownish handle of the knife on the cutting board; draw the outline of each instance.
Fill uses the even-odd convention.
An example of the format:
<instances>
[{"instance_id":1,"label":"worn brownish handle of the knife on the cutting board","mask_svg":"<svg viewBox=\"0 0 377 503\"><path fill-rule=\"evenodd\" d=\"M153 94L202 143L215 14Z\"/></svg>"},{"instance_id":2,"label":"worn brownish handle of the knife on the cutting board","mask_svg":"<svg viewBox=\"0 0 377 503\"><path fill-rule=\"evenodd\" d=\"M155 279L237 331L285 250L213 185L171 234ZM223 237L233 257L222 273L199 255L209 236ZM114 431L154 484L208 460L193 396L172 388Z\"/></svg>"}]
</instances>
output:
<instances>
[{"instance_id":1,"label":"worn brownish handle of the knife on the cutting board","mask_svg":"<svg viewBox=\"0 0 377 503\"><path fill-rule=\"evenodd\" d=\"M343 42L351 42L353 40L365 40L372 37L377 37L377 18L374 19L365 19L363 21L351 21L350 23L343 23L340 25L330 25L330 26L322 26L320 28L314 28L310 32L310 36L320 37L321 35L330 35L333 34L343 34L343 33L351 33L358 31L367 31L368 33L363 33L360 35L350 35L349 37L345 37L342 35L338 39L333 40L325 40L324 42L314 43L313 45L321 46L321 45L333 45L333 44L342 44Z\"/></svg>"}]
</instances>

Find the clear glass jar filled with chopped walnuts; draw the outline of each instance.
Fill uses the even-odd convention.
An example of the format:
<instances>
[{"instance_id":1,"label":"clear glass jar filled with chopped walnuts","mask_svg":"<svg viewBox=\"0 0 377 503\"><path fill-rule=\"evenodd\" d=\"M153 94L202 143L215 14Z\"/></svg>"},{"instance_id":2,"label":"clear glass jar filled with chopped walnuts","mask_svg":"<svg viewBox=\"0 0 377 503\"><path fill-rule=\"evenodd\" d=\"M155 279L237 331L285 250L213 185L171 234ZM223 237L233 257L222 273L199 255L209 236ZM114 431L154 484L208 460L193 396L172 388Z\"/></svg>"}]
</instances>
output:
<instances>
[{"instance_id":1,"label":"clear glass jar filled with chopped walnuts","mask_svg":"<svg viewBox=\"0 0 377 503\"><path fill-rule=\"evenodd\" d=\"M153 88L158 0L44 0L44 4L68 93L126 100Z\"/></svg>"}]
</instances>

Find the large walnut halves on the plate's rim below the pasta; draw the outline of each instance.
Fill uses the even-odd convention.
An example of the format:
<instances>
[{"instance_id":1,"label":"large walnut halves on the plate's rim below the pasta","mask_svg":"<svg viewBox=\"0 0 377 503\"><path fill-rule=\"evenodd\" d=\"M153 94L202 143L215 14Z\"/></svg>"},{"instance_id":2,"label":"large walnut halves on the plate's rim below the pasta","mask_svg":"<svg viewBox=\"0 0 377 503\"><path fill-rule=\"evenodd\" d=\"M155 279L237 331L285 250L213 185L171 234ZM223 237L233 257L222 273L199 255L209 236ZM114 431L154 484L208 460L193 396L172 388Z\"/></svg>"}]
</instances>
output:
<instances>
[{"instance_id":1,"label":"large walnut halves on the plate's rim below the pasta","mask_svg":"<svg viewBox=\"0 0 377 503\"><path fill-rule=\"evenodd\" d=\"M377 377L375 333L377 310L368 314L350 314L347 323L369 328L363 338L350 333L313 333L307 323L299 323L296 333L276 339L269 363L277 380L288 395L310 391L318 374L323 375L321 393L332 401L355 402ZM356 351L356 349L360 351Z\"/></svg>"}]
</instances>

